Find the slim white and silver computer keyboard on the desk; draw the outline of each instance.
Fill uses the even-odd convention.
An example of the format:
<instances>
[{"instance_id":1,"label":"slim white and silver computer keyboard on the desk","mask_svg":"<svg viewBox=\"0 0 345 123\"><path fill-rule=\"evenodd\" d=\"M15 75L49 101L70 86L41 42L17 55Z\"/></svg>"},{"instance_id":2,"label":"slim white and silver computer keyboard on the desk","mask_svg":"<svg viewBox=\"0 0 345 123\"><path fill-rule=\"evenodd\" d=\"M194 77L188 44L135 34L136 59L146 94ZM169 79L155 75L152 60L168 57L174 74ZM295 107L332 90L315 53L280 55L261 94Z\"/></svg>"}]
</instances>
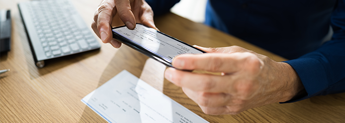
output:
<instances>
[{"instance_id":1,"label":"slim white and silver computer keyboard on the desk","mask_svg":"<svg viewBox=\"0 0 345 123\"><path fill-rule=\"evenodd\" d=\"M101 47L69 0L18 4L37 67L44 61Z\"/></svg>"}]
</instances>

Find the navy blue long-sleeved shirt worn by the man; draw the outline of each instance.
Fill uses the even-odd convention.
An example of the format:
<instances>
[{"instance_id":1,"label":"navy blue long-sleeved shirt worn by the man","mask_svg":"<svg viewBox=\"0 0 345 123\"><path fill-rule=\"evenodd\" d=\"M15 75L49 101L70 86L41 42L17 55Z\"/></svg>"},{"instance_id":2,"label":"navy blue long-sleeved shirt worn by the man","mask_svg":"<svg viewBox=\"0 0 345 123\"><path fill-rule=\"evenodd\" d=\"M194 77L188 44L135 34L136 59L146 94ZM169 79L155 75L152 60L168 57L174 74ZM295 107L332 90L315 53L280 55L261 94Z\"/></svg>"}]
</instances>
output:
<instances>
[{"instance_id":1,"label":"navy blue long-sleeved shirt worn by the man","mask_svg":"<svg viewBox=\"0 0 345 123\"><path fill-rule=\"evenodd\" d=\"M179 0L146 1L160 15ZM208 0L205 24L290 59L308 94L287 102L345 92L345 0Z\"/></svg>"}]
</instances>

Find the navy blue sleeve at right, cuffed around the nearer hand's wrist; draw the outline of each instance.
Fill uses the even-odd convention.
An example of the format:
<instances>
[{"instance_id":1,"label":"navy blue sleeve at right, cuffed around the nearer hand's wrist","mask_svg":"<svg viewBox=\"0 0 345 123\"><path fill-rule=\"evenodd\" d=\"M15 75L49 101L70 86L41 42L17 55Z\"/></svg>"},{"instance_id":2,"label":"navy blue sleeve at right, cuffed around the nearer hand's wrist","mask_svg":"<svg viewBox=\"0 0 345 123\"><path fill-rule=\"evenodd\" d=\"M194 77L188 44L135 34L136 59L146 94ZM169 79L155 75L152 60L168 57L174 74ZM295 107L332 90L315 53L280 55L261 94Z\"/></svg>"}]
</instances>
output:
<instances>
[{"instance_id":1,"label":"navy blue sleeve at right, cuffed around the nearer hand's wrist","mask_svg":"<svg viewBox=\"0 0 345 123\"><path fill-rule=\"evenodd\" d=\"M334 34L330 41L298 59L285 61L295 69L307 94L283 103L345 92L345 0L338 0L331 26Z\"/></svg>"}]
</instances>

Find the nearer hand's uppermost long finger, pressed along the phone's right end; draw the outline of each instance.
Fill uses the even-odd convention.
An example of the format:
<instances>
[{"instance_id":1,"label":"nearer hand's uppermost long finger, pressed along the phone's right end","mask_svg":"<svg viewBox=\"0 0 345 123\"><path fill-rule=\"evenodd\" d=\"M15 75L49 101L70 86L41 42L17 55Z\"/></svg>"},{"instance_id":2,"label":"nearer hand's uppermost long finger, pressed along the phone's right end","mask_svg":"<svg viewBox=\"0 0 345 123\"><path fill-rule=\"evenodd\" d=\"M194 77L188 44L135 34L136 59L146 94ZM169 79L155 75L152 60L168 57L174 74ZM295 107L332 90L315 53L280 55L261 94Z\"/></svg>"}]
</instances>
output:
<instances>
[{"instance_id":1,"label":"nearer hand's uppermost long finger, pressed along the phone's right end","mask_svg":"<svg viewBox=\"0 0 345 123\"><path fill-rule=\"evenodd\" d=\"M240 70L248 57L255 56L250 53L183 54L176 56L172 64L178 69L232 73Z\"/></svg>"}]
</instances>

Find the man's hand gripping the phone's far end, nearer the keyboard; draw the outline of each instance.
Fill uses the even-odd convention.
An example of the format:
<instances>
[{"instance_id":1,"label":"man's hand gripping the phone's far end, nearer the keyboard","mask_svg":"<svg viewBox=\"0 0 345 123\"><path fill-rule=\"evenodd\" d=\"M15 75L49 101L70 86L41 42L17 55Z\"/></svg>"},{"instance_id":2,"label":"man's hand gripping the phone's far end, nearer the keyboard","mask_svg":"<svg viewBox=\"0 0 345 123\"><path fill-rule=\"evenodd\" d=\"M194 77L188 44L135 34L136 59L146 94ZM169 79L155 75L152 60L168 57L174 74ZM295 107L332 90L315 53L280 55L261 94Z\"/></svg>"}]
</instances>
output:
<instances>
[{"instance_id":1,"label":"man's hand gripping the phone's far end, nearer the keyboard","mask_svg":"<svg viewBox=\"0 0 345 123\"><path fill-rule=\"evenodd\" d=\"M157 30L153 22L153 11L145 0L103 0L94 15L91 27L103 43L119 48L121 43L112 38L111 23L118 14L128 29L135 29L141 23Z\"/></svg>"}]
</instances>

